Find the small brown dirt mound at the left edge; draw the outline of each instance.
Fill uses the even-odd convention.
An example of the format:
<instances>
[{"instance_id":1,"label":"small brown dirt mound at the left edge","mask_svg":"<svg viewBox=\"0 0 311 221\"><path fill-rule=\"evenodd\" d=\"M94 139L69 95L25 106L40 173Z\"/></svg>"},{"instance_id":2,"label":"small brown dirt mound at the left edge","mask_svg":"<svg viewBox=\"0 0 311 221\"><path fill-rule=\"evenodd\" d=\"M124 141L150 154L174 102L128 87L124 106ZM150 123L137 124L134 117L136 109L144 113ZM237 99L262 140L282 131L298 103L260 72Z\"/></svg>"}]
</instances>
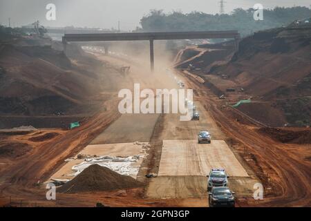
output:
<instances>
[{"instance_id":1,"label":"small brown dirt mound at the left edge","mask_svg":"<svg viewBox=\"0 0 311 221\"><path fill-rule=\"evenodd\" d=\"M15 159L17 157L21 157L31 151L32 146L29 144L11 142L11 143L3 143L0 144L0 157L3 158L12 158Z\"/></svg>"}]
</instances>

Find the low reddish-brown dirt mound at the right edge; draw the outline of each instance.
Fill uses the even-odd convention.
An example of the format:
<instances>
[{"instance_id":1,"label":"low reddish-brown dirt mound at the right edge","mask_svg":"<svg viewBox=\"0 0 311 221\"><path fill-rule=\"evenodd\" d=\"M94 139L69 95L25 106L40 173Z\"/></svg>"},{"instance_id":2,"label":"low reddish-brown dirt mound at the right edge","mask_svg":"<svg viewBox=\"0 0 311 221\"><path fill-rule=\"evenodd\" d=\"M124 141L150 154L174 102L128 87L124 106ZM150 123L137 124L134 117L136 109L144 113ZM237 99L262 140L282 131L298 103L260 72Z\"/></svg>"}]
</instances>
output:
<instances>
[{"instance_id":1,"label":"low reddish-brown dirt mound at the right edge","mask_svg":"<svg viewBox=\"0 0 311 221\"><path fill-rule=\"evenodd\" d=\"M311 129L310 128L260 128L260 133L267 134L273 140L289 144L311 144Z\"/></svg>"}]
</instances>

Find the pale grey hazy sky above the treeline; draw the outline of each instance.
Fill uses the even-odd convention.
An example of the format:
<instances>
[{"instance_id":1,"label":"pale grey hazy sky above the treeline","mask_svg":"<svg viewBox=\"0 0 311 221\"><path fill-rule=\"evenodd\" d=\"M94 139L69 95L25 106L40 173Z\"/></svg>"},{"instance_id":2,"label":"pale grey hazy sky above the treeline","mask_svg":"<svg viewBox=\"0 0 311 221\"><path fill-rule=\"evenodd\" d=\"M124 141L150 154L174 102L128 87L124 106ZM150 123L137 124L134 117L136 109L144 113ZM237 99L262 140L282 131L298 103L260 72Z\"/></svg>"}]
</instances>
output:
<instances>
[{"instance_id":1,"label":"pale grey hazy sky above the treeline","mask_svg":"<svg viewBox=\"0 0 311 221\"><path fill-rule=\"evenodd\" d=\"M164 12L200 11L210 14L219 12L220 0L0 0L0 23L8 26L21 26L39 20L44 26L79 26L93 28L117 28L120 20L121 30L133 30L139 26L140 19L151 9ZM252 8L255 3L264 8L275 6L307 6L310 0L225 0L225 12L234 8ZM56 6L56 21L46 20L46 5Z\"/></svg>"}]
</instances>

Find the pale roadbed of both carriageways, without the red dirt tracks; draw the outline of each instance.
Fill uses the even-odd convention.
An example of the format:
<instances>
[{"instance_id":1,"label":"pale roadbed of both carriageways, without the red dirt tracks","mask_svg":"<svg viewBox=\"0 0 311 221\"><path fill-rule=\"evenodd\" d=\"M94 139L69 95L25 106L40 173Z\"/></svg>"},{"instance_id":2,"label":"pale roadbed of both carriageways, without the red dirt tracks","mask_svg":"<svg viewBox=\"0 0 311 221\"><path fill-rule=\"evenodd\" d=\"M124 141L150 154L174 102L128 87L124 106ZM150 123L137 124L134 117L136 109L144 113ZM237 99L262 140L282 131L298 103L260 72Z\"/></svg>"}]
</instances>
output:
<instances>
[{"instance_id":1,"label":"pale roadbed of both carriageways, without the red dirt tracks","mask_svg":"<svg viewBox=\"0 0 311 221\"><path fill-rule=\"evenodd\" d=\"M97 56L111 61L109 57ZM133 67L133 71L136 68L140 67ZM163 71L165 73L165 70ZM170 71L170 77L162 81L162 88L178 88L175 77L183 79ZM206 175L212 168L227 169L227 173L231 176L229 185L237 195L252 195L253 185L258 182L254 173L249 168L245 169L239 162L226 144L226 136L220 131L209 112L199 101L195 101L195 104L200 112L200 121L181 122L179 115L175 114L122 115L77 154L126 157L138 155L142 151L135 146L135 142L150 142L148 153L150 155L153 153L152 157L147 156L131 165L132 168L136 168L139 164L140 171L137 176L132 175L142 182L147 182L144 193L147 199L196 198L200 202L196 204L197 206L207 206ZM201 130L211 132L213 137L211 144L198 144L197 134ZM122 148L118 148L120 145ZM71 168L82 162L83 160L70 161L52 177L62 179L64 174L67 177L66 175L74 173ZM156 173L157 177L146 179L145 175L149 172ZM185 205L191 206L191 203Z\"/></svg>"}]
</instances>

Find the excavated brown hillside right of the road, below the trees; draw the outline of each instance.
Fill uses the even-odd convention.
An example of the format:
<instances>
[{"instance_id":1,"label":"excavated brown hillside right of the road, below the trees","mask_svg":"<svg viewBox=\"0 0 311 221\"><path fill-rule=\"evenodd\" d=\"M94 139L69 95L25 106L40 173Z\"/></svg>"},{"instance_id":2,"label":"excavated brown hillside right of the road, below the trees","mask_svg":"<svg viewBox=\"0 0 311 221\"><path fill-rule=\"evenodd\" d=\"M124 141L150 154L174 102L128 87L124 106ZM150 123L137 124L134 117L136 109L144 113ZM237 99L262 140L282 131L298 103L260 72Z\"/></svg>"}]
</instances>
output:
<instances>
[{"instance_id":1,"label":"excavated brown hillside right of the road, below the trees","mask_svg":"<svg viewBox=\"0 0 311 221\"><path fill-rule=\"evenodd\" d=\"M207 55L194 57L206 60L202 63L207 64L194 73L204 78L218 96L225 95L231 104L251 98L252 103L237 107L239 111L267 126L310 125L310 26L256 32L241 40L231 59L216 57L223 60L218 64L215 57L210 55L210 59ZM231 88L235 91L227 90Z\"/></svg>"}]
</instances>

